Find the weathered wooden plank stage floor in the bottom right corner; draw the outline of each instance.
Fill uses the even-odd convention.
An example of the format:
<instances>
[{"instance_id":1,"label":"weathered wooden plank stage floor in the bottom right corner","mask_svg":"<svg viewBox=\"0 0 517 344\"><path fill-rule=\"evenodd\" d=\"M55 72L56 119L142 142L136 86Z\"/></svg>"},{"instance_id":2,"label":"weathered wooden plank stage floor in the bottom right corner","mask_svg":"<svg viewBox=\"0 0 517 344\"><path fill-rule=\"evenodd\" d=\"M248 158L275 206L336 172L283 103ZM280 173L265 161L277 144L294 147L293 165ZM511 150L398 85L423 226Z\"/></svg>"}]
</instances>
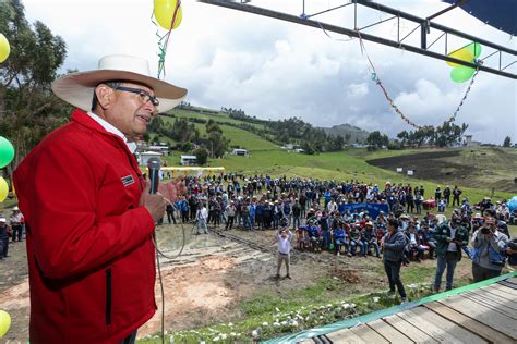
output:
<instances>
[{"instance_id":1,"label":"weathered wooden plank stage floor in the bottom right corner","mask_svg":"<svg viewBox=\"0 0 517 344\"><path fill-rule=\"evenodd\" d=\"M517 343L517 278L437 298L313 343Z\"/></svg>"}]
</instances>

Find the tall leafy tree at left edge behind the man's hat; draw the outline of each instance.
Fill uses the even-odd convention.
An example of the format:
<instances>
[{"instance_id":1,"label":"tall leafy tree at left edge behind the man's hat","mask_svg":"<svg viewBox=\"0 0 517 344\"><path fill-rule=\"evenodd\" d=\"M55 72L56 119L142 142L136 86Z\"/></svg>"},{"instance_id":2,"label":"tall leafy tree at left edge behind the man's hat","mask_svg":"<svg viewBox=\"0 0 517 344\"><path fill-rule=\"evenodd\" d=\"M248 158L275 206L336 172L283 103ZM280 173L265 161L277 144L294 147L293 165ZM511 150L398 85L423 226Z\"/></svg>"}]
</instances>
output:
<instances>
[{"instance_id":1,"label":"tall leafy tree at left edge behind the man's hat","mask_svg":"<svg viewBox=\"0 0 517 344\"><path fill-rule=\"evenodd\" d=\"M0 33L11 54L0 65L0 132L15 147L14 165L44 136L68 121L71 107L50 90L67 45L41 22L34 28L20 0L0 1Z\"/></svg>"}]
</instances>

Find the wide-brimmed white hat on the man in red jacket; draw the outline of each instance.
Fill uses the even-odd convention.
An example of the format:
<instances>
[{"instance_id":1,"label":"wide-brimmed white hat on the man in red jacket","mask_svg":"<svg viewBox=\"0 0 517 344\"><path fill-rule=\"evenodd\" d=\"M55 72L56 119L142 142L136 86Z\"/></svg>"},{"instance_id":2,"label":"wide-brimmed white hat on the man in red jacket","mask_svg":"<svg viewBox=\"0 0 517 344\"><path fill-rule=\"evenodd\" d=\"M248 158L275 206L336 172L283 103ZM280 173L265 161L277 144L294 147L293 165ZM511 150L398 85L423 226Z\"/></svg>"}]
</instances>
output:
<instances>
[{"instance_id":1,"label":"wide-brimmed white hat on the man in red jacket","mask_svg":"<svg viewBox=\"0 0 517 344\"><path fill-rule=\"evenodd\" d=\"M147 60L124 54L101 58L98 70L61 76L53 82L52 91L74 107L89 111L95 87L108 81L136 82L153 88L159 100L158 112L172 109L187 95L187 89L151 76Z\"/></svg>"}]
</instances>

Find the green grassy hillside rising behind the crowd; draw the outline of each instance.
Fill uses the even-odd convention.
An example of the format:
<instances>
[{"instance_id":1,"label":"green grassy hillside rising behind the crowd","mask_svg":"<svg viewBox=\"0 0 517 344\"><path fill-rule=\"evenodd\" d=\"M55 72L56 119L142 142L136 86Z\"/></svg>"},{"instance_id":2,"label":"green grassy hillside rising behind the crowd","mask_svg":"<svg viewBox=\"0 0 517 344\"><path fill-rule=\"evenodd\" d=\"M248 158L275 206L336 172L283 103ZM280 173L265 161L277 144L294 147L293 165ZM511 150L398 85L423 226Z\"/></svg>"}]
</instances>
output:
<instances>
[{"instance_id":1,"label":"green grassy hillside rising behind the crowd","mask_svg":"<svg viewBox=\"0 0 517 344\"><path fill-rule=\"evenodd\" d=\"M336 181L358 180L360 182L378 185L384 185L387 181L392 183L410 183L412 185L423 185L426 189L426 196L431 195L437 184L442 186L445 186L445 184L457 184L465 191L464 195L469 196L472 201L478 201L485 196L494 196L495 198L508 198L513 196L512 188L506 187L506 184L508 184L510 180L512 184L514 184L513 171L517 170L517 159L515 159L517 158L517 151L515 149L457 149L457 152L454 152L454 157L438 157L433 159L429 159L429 157L436 153L440 156L442 152L454 150L425 148L387 151L377 150L370 152L365 149L347 149L340 152L309 156L282 150L270 140L237 127L244 122L230 119L225 113L199 113L188 110L173 110L170 113L177 118L190 118L204 121L213 119L219 123L225 137L230 139L230 146L241 146L248 149L251 153L250 157L226 155L223 159L215 159L208 162L212 167L225 167L229 172L270 175L286 174L288 176ZM175 119L164 118L164 120L173 121ZM202 135L206 134L205 124L194 124ZM250 123L247 122L245 124ZM261 130L263 128L262 124L251 125ZM172 156L167 158L169 164L178 165L179 156L181 153L183 152L172 152ZM405 174L396 173L393 165L389 168L380 168L371 163L372 160L375 159L392 158L394 160L393 163L398 165L405 157L411 161L412 164L419 167L418 169L413 167L413 169L417 170L417 177L409 177ZM418 159L412 157L417 157ZM458 179L454 180L452 179L454 173L447 174L447 171L444 173L440 173L438 171L431 175L431 177L429 175L423 177L422 175L424 174L421 173L421 167L426 163L425 165L431 169L433 164L437 164L436 161L440 161L441 165L448 169L477 171L477 173L470 173L467 177L465 174L458 174ZM515 177L517 177L517 175L515 175ZM493 187L495 191L492 195Z\"/></svg>"}]
</instances>

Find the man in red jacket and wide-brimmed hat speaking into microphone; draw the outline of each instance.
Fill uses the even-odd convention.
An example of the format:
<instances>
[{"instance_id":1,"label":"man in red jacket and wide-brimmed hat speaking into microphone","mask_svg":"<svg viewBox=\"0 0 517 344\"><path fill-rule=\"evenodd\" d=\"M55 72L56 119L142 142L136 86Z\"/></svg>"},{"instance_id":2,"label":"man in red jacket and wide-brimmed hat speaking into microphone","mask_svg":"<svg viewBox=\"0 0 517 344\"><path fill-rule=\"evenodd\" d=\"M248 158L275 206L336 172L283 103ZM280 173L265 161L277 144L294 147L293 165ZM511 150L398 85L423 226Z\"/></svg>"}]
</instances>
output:
<instances>
[{"instance_id":1,"label":"man in red jacket and wide-brimmed hat speaking into microphone","mask_svg":"<svg viewBox=\"0 0 517 344\"><path fill-rule=\"evenodd\" d=\"M79 109L14 171L26 224L31 343L133 343L156 311L152 235L166 207L149 194L134 142L187 90L129 56L104 57L98 70L68 74L52 90Z\"/></svg>"}]
</instances>

